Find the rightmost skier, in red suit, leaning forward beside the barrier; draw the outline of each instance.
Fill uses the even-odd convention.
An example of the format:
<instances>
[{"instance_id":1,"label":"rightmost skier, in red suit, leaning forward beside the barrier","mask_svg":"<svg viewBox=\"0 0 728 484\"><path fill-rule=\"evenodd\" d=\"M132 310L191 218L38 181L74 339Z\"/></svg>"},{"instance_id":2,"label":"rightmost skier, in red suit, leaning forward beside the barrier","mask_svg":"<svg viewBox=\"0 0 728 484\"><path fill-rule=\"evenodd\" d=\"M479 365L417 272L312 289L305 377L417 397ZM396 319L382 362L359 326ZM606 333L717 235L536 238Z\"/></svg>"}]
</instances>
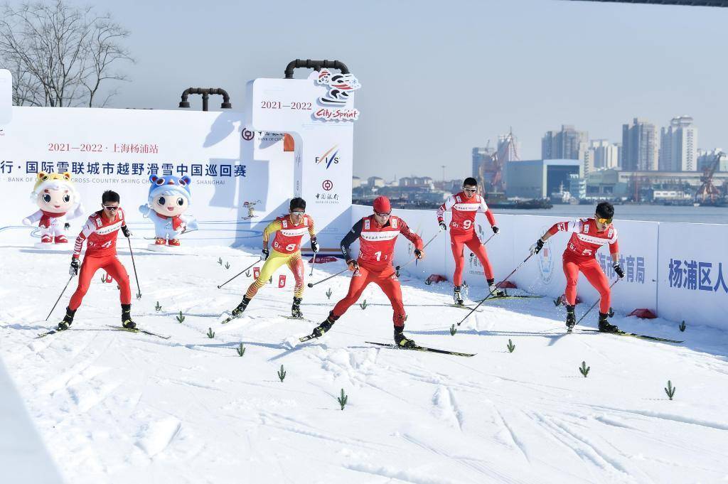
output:
<instances>
[{"instance_id":1,"label":"rightmost skier, in red suit, leaning forward beside the barrier","mask_svg":"<svg viewBox=\"0 0 728 484\"><path fill-rule=\"evenodd\" d=\"M574 305L577 301L577 279L579 271L587 281L599 291L599 330L613 333L619 330L606 320L609 315L609 306L612 301L612 291L609 289L609 279L601 270L596 260L596 251L599 247L609 245L609 254L612 255L614 272L622 279L625 271L620 263L620 247L617 245L617 229L612 226L614 207L609 202L601 202L596 206L594 218L580 218L578 220L559 222L553 224L532 247L534 253L539 253L552 235L558 231L571 232L571 239L563 251L563 274L566 275L566 326L573 328L577 323L574 315Z\"/></svg>"}]
</instances>

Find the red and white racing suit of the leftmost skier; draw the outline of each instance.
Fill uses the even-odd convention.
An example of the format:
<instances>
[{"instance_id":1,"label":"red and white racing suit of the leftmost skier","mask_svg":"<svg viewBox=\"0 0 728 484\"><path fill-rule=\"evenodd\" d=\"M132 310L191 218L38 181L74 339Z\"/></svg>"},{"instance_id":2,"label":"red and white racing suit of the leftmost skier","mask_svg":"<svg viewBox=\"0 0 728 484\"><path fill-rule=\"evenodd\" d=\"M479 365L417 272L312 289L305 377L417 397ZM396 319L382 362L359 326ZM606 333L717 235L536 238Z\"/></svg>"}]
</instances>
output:
<instances>
[{"instance_id":1,"label":"red and white racing suit of the leftmost skier","mask_svg":"<svg viewBox=\"0 0 728 484\"><path fill-rule=\"evenodd\" d=\"M79 270L79 285L76 287L74 295L71 295L68 309L76 310L81 306L81 301L89 290L93 275L98 269L105 270L119 285L122 304L131 304L129 275L119 258L116 257L116 236L122 226L126 226L126 222L124 221L124 210L121 208L116 210L112 221L104 218L103 210L93 213L86 221L86 225L76 237L74 245L74 258L77 259L81 255L84 241L86 241L86 253Z\"/></svg>"}]
</instances>

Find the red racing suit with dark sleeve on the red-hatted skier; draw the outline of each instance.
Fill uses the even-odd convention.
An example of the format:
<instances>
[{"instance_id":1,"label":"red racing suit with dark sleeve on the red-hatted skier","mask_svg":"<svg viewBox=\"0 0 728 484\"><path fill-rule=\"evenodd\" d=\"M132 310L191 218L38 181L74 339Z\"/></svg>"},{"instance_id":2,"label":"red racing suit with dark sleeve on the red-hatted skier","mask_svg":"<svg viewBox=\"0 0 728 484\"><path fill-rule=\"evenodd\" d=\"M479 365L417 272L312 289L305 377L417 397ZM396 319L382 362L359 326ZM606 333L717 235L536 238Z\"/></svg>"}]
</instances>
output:
<instances>
[{"instance_id":1,"label":"red racing suit with dark sleeve on the red-hatted skier","mask_svg":"<svg viewBox=\"0 0 728 484\"><path fill-rule=\"evenodd\" d=\"M349 261L352 259L349 246L357 238L359 239L357 258L359 269L354 272L349 282L347 295L331 310L334 320L339 319L349 306L357 302L365 288L373 282L381 287L389 298L389 303L392 304L392 321L395 323L395 328L403 328L406 314L402 303L402 289L392 266L392 255L399 234L407 237L417 249L422 250L422 239L419 235L410 231L405 221L395 215L389 217L384 226L376 222L374 215L369 215L355 223L351 231L341 240L341 253Z\"/></svg>"}]
</instances>

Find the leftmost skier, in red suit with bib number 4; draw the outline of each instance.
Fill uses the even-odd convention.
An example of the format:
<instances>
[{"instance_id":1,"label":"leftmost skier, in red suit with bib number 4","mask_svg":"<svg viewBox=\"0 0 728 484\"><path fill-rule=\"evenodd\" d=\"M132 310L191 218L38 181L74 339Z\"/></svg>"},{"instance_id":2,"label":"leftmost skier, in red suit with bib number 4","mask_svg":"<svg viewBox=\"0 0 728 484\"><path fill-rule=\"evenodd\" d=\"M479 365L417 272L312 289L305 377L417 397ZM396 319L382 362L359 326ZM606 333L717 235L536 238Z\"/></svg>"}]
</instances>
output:
<instances>
[{"instance_id":1,"label":"leftmost skier, in red suit with bib number 4","mask_svg":"<svg viewBox=\"0 0 728 484\"><path fill-rule=\"evenodd\" d=\"M119 233L119 229L124 233L124 237L130 237L131 232L127 229L124 220L124 210L119 207L119 194L111 190L104 191L101 196L101 206L102 209L88 218L81 233L76 237L74 255L71 258L71 268L68 273L71 276L79 275L79 285L76 287L74 295L71 295L71 301L66 308L66 316L63 317L63 321L58 323L58 330L67 330L74 322L76 309L81 306L91 279L98 269L105 270L119 285L122 326L128 329L136 328L130 314L132 293L129 287L129 275L119 258L116 257L116 235ZM79 256L84 241L86 241L86 253L79 274Z\"/></svg>"}]
</instances>

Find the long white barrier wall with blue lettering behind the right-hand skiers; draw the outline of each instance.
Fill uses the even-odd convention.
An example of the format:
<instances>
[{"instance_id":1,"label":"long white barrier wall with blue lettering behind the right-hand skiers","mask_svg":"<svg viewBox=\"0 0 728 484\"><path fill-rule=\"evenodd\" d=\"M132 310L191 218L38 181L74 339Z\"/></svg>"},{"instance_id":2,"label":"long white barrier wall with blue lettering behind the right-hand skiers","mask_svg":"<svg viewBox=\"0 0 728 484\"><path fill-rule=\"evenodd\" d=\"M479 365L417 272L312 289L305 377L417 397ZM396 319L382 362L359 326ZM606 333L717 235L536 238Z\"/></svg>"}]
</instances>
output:
<instances>
[{"instance_id":1,"label":"long white barrier wall with blue lettering behind the right-hand skiers","mask_svg":"<svg viewBox=\"0 0 728 484\"><path fill-rule=\"evenodd\" d=\"M585 211L585 215L588 215ZM352 207L352 224L369 215L371 207ZM416 231L424 242L438 232L435 210L393 210ZM510 274L529 255L529 247L553 223L569 220L563 217L537 215L502 215L495 213L501 229L486 250L494 269L496 281ZM449 222L450 214L446 214ZM475 230L482 242L493 232L485 215L478 213ZM728 329L728 226L700 223L657 223L644 221L614 221L619 234L620 264L625 278L612 288L612 307L620 312L646 308L668 320L687 320L693 324ZM559 232L551 237L544 249L521 266L510 278L529 293L557 298L563 294L566 278L563 275L563 250L571 234ZM395 246L395 265L412 258L408 240L400 237ZM485 294L485 277L477 258L464 251L463 277L471 298ZM617 279L612 269L609 248L597 253L605 274L611 282ZM426 278L440 274L452 281L454 260L448 232L427 247L427 258L408 266L403 274ZM598 293L583 275L579 275L577 295L585 304L598 299ZM596 316L595 316L596 317Z\"/></svg>"}]
</instances>

